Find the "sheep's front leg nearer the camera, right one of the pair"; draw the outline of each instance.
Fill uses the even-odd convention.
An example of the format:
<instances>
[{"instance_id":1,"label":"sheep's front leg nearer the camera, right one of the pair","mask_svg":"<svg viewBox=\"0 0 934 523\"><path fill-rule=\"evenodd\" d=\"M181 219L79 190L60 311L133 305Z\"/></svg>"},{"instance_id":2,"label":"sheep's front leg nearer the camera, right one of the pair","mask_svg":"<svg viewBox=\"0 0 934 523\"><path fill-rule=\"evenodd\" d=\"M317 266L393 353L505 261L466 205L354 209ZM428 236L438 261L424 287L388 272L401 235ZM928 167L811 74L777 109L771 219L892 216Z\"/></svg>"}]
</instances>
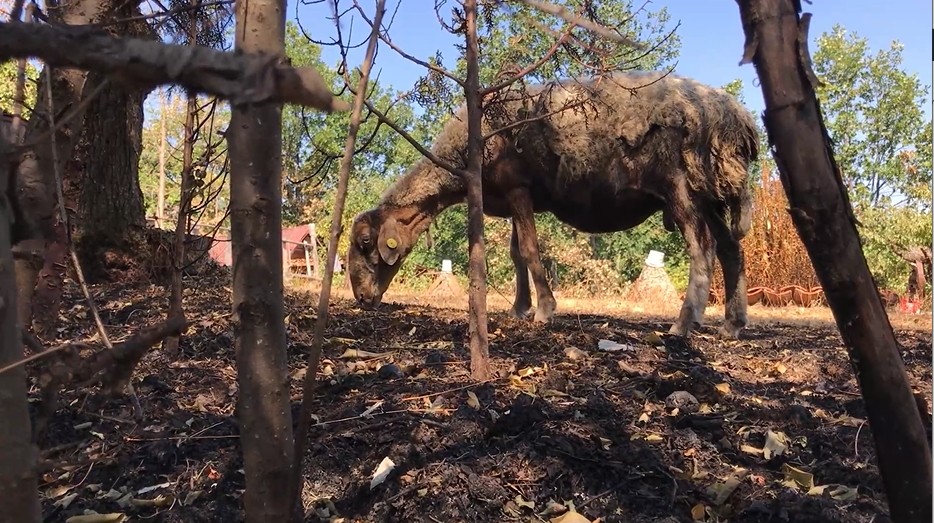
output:
<instances>
[{"instance_id":1,"label":"sheep's front leg nearer the camera, right one of the pair","mask_svg":"<svg viewBox=\"0 0 934 523\"><path fill-rule=\"evenodd\" d=\"M555 314L554 294L551 293L551 287L548 286L548 280L545 279L545 267L542 266L542 259L538 252L538 233L535 231L535 215L532 211L532 197L526 189L515 189L509 192L509 205L512 208L513 238L518 244L519 257L525 262L528 270L532 273L532 281L535 283L535 292L538 294L538 301L535 305L535 321L547 322ZM518 293L519 283L522 277L519 275L520 267L516 265L516 303L520 303ZM525 272L525 271L522 271ZM525 278L526 288L528 288L528 277ZM531 298L529 299L531 301Z\"/></svg>"}]
</instances>

